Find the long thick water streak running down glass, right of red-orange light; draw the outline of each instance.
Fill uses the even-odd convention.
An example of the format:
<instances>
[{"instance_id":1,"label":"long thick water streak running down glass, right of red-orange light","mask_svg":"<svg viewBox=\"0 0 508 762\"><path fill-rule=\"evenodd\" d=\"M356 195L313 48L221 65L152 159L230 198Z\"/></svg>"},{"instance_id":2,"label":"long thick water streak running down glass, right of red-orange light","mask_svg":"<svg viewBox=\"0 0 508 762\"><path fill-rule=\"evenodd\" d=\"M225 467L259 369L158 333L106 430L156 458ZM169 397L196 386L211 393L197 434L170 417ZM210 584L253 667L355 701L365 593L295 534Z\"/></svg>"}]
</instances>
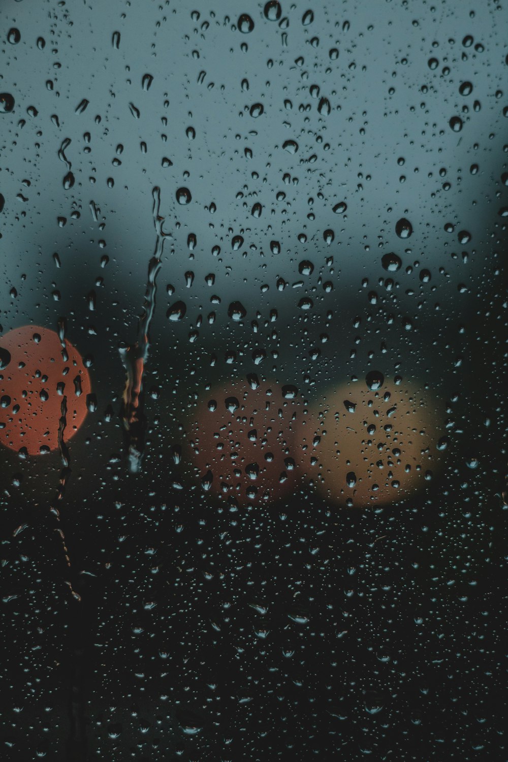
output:
<instances>
[{"instance_id":1,"label":"long thick water streak running down glass, right of red-orange light","mask_svg":"<svg viewBox=\"0 0 508 762\"><path fill-rule=\"evenodd\" d=\"M121 344L119 347L123 367L126 370L126 385L123 390L121 417L126 432L126 453L131 473L138 473L141 470L146 429L142 379L145 363L149 355L149 329L155 312L157 276L161 269L162 251L165 239L171 237L171 234L165 233L162 230L164 217L159 215L161 206L161 189L159 187L153 189L152 198L156 239L155 252L149 262L145 303L142 315L139 318L136 341L133 344Z\"/></svg>"}]
</instances>

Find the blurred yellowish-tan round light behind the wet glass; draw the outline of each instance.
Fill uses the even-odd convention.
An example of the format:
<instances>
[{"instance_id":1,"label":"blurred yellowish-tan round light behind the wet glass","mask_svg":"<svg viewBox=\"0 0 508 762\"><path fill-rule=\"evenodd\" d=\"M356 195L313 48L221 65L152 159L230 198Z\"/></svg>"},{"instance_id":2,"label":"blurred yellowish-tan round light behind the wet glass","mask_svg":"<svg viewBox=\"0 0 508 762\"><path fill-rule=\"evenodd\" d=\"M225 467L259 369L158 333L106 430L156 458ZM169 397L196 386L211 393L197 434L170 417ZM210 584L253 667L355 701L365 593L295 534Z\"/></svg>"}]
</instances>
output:
<instances>
[{"instance_id":1,"label":"blurred yellowish-tan round light behind the wet glass","mask_svg":"<svg viewBox=\"0 0 508 762\"><path fill-rule=\"evenodd\" d=\"M365 380L331 389L309 408L297 438L318 492L347 507L401 501L433 479L442 405L423 385Z\"/></svg>"}]
</instances>

